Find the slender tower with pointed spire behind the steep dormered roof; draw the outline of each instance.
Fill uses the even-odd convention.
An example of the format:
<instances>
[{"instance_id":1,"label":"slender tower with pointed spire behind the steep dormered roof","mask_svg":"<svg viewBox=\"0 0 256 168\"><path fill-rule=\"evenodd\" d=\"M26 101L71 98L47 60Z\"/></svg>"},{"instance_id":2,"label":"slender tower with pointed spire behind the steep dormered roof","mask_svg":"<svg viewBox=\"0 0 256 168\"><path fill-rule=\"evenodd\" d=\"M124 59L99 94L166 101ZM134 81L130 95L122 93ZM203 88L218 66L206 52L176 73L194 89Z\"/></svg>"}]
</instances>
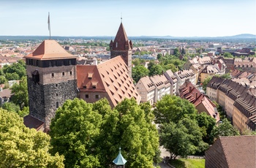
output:
<instances>
[{"instance_id":1,"label":"slender tower with pointed spire behind the steep dormered roof","mask_svg":"<svg viewBox=\"0 0 256 168\"><path fill-rule=\"evenodd\" d=\"M120 24L114 42L110 42L110 58L122 56L132 77L132 41L128 39L123 23Z\"/></svg>"}]
</instances>

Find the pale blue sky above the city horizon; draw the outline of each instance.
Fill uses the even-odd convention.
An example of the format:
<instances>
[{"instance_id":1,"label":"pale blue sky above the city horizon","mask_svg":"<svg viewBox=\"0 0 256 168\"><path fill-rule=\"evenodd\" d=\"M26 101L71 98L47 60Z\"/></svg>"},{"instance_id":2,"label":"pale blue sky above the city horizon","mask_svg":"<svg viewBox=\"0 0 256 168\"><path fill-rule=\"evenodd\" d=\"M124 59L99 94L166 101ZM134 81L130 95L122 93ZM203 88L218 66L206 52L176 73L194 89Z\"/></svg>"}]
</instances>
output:
<instances>
[{"instance_id":1,"label":"pale blue sky above the city horizon","mask_svg":"<svg viewBox=\"0 0 256 168\"><path fill-rule=\"evenodd\" d=\"M256 0L0 0L0 36L256 34Z\"/></svg>"}]
</instances>

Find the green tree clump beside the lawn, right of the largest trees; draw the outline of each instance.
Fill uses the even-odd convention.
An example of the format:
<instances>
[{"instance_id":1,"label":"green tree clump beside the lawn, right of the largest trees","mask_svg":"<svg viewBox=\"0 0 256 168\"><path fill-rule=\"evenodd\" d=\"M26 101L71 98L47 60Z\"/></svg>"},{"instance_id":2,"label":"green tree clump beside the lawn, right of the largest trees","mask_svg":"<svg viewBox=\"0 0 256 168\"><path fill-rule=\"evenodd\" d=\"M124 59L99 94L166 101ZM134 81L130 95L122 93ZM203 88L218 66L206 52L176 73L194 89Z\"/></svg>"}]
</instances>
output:
<instances>
[{"instance_id":1,"label":"green tree clump beside the lawn, right of the largest trees","mask_svg":"<svg viewBox=\"0 0 256 168\"><path fill-rule=\"evenodd\" d=\"M202 130L208 129L208 125L198 124L197 110L195 106L186 99L178 96L163 96L157 102L154 110L156 122L160 124L160 145L169 152L171 159L176 156L186 157L200 153L208 148L208 143L203 142ZM207 127L207 128L206 128Z\"/></svg>"}]
</instances>

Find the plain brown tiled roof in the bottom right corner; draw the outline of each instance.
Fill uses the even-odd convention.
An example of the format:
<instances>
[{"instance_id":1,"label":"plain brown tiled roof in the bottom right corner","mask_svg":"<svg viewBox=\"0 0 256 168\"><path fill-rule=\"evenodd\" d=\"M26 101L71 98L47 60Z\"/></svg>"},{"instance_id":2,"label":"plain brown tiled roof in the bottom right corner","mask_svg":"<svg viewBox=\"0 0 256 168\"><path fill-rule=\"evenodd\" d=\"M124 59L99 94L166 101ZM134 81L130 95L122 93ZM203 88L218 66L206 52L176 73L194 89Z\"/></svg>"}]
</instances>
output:
<instances>
[{"instance_id":1,"label":"plain brown tiled roof in the bottom right corner","mask_svg":"<svg viewBox=\"0 0 256 168\"><path fill-rule=\"evenodd\" d=\"M255 168L256 136L219 137L206 150L206 168Z\"/></svg>"}]
</instances>

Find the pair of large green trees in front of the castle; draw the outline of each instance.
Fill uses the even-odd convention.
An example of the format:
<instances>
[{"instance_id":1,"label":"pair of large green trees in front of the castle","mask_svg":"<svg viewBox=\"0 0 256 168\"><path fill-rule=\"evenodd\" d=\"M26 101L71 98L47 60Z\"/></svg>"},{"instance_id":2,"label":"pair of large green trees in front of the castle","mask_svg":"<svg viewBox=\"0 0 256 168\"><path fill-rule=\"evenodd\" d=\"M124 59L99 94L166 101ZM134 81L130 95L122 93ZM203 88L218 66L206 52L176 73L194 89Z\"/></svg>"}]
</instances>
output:
<instances>
[{"instance_id":1,"label":"pair of large green trees in front of the castle","mask_svg":"<svg viewBox=\"0 0 256 168\"><path fill-rule=\"evenodd\" d=\"M121 147L128 167L152 167L159 140L150 109L134 99L124 99L113 110L107 99L94 104L68 100L50 126L52 152L65 156L66 167L108 167Z\"/></svg>"}]
</instances>

